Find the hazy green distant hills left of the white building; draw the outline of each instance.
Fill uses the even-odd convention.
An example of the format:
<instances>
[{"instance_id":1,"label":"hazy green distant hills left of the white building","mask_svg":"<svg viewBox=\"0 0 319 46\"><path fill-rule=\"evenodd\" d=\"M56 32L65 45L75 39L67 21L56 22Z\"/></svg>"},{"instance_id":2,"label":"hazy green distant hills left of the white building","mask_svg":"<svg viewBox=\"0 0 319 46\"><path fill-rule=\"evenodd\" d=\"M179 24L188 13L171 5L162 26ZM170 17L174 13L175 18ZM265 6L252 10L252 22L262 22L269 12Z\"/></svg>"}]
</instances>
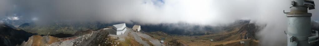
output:
<instances>
[{"instance_id":1,"label":"hazy green distant hills left of the white building","mask_svg":"<svg viewBox=\"0 0 319 46\"><path fill-rule=\"evenodd\" d=\"M35 24L35 23L24 23L18 28L23 29L27 32L38 33L41 35L49 35L49 34L74 34L77 31L85 31L88 29L97 30L101 28L105 28L110 24L104 24L99 22L94 23L65 23L65 22L56 22L49 24Z\"/></svg>"}]
</instances>

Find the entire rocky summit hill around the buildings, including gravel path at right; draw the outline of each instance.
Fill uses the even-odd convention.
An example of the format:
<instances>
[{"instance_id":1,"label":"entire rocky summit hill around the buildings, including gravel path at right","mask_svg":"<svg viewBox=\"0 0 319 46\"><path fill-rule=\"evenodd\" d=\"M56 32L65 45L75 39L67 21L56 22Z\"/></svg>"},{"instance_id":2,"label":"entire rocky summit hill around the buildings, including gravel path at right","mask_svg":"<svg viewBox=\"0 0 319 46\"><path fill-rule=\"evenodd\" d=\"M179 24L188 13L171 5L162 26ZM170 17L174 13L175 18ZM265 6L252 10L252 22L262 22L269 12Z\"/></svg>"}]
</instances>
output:
<instances>
[{"instance_id":1,"label":"entire rocky summit hill around the buildings, including gravel path at right","mask_svg":"<svg viewBox=\"0 0 319 46\"><path fill-rule=\"evenodd\" d=\"M96 31L84 31L74 37L56 38L52 36L33 35L21 46L165 46L144 33L131 31L115 35L114 29L103 28ZM80 32L78 32L80 33Z\"/></svg>"}]
</instances>

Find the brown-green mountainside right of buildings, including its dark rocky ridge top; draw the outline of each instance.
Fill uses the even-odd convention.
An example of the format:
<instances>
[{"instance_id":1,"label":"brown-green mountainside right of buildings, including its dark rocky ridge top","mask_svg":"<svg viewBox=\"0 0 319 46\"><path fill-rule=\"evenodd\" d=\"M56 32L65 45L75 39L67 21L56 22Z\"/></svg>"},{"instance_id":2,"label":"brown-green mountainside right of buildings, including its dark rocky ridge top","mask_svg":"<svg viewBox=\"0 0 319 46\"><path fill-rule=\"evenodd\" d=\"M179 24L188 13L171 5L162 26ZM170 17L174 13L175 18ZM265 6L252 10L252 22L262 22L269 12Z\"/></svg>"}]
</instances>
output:
<instances>
[{"instance_id":1,"label":"brown-green mountainside right of buildings, including its dark rocky ridge top","mask_svg":"<svg viewBox=\"0 0 319 46\"><path fill-rule=\"evenodd\" d=\"M258 28L254 23L241 21L225 26L219 32L205 35L171 35L162 31L147 34L153 38L167 41L168 45L174 46L258 46L259 41L255 37ZM240 41L245 43L241 44Z\"/></svg>"}]
</instances>

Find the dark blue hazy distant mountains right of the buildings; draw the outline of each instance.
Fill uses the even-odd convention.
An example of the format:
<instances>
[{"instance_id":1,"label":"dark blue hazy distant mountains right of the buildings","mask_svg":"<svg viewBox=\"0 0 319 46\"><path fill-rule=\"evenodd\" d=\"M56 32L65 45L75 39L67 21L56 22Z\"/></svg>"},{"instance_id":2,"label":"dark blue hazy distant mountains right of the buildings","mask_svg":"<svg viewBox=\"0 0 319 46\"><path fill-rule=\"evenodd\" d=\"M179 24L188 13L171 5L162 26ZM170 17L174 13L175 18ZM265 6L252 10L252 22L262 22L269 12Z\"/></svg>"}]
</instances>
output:
<instances>
[{"instance_id":1,"label":"dark blue hazy distant mountains right of the buildings","mask_svg":"<svg viewBox=\"0 0 319 46\"><path fill-rule=\"evenodd\" d=\"M250 20L237 20L234 23L221 26L210 25L195 25L189 23L161 23L156 25L141 25L141 28L145 32L162 31L168 34L177 35L205 35L209 33L216 33L223 29L227 29L230 26L241 25L249 23Z\"/></svg>"}]
</instances>

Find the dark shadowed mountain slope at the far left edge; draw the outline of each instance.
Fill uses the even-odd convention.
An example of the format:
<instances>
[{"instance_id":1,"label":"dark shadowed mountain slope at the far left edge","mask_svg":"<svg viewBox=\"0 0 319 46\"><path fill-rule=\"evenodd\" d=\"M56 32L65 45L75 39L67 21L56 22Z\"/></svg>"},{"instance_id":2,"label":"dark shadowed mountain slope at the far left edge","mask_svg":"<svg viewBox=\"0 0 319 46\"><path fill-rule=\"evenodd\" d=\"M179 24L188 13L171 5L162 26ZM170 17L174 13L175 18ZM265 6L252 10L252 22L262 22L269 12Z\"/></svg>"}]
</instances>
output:
<instances>
[{"instance_id":1,"label":"dark shadowed mountain slope at the far left edge","mask_svg":"<svg viewBox=\"0 0 319 46\"><path fill-rule=\"evenodd\" d=\"M35 34L24 30L17 30L7 24L0 23L0 46L20 45L23 41L27 41L32 35Z\"/></svg>"}]
</instances>

